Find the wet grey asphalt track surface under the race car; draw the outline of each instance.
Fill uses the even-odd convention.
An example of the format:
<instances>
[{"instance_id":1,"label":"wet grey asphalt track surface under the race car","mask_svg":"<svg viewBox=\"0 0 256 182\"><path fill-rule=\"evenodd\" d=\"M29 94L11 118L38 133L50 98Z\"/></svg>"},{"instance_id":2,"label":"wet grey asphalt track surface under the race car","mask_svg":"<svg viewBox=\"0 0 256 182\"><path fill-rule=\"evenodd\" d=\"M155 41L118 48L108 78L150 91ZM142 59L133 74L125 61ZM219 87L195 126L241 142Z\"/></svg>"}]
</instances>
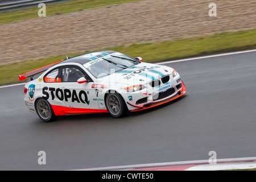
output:
<instances>
[{"instance_id":1,"label":"wet grey asphalt track surface under the race car","mask_svg":"<svg viewBox=\"0 0 256 182\"><path fill-rule=\"evenodd\" d=\"M121 119L69 115L44 123L23 85L0 88L0 170L66 170L255 156L256 52L166 64L184 97ZM46 152L46 165L38 152Z\"/></svg>"}]
</instances>

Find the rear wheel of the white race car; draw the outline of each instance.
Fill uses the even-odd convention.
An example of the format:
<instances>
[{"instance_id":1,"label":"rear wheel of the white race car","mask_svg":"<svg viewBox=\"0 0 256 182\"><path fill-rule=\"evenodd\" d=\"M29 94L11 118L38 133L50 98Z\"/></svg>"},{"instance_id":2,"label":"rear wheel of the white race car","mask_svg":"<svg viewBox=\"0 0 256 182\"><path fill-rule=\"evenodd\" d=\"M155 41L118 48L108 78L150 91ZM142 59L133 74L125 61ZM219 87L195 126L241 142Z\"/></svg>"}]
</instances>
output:
<instances>
[{"instance_id":1,"label":"rear wheel of the white race car","mask_svg":"<svg viewBox=\"0 0 256 182\"><path fill-rule=\"evenodd\" d=\"M56 120L56 115L54 114L51 105L44 98L39 98L35 103L36 113L39 118L44 122L51 122Z\"/></svg>"}]
</instances>

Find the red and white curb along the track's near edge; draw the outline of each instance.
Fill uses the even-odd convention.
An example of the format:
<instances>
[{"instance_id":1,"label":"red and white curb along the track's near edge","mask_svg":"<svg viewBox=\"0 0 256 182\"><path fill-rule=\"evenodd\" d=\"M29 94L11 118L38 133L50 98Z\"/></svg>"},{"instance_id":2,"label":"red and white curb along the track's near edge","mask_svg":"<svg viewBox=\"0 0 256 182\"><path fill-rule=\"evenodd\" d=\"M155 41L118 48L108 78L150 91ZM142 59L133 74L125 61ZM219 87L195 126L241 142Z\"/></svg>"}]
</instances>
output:
<instances>
[{"instance_id":1,"label":"red and white curb along the track's near edge","mask_svg":"<svg viewBox=\"0 0 256 182\"><path fill-rule=\"evenodd\" d=\"M184 162L137 164L129 166L112 166L100 168L75 169L75 171L217 171L229 169L256 168L256 157L216 159L216 163L209 164L209 160L191 160Z\"/></svg>"}]
</instances>

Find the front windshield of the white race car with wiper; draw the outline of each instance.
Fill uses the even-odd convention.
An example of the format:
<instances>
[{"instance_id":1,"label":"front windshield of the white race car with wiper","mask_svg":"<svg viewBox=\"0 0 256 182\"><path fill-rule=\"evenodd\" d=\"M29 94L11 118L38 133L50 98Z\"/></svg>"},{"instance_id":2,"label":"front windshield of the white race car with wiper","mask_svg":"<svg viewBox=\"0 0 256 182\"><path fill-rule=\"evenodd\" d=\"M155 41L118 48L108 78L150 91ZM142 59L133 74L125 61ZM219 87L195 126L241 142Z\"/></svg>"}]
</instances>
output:
<instances>
[{"instance_id":1,"label":"front windshield of the white race car with wiper","mask_svg":"<svg viewBox=\"0 0 256 182\"><path fill-rule=\"evenodd\" d=\"M132 57L121 53L112 53L111 55L102 56L93 60L89 64L86 63L84 66L94 77L102 78L139 63L141 62Z\"/></svg>"}]
</instances>

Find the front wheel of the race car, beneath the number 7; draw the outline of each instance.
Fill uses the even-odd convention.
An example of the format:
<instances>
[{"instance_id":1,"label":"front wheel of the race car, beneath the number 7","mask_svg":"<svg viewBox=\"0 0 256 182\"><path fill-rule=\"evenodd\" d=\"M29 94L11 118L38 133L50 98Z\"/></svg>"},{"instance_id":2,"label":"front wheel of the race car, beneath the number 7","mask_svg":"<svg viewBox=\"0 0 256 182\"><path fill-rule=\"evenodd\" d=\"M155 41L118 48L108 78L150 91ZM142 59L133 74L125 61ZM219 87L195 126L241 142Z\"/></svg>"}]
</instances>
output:
<instances>
[{"instance_id":1,"label":"front wheel of the race car, beneath the number 7","mask_svg":"<svg viewBox=\"0 0 256 182\"><path fill-rule=\"evenodd\" d=\"M105 104L109 114L114 118L124 117L129 111L122 96L118 93L109 93Z\"/></svg>"}]
</instances>

